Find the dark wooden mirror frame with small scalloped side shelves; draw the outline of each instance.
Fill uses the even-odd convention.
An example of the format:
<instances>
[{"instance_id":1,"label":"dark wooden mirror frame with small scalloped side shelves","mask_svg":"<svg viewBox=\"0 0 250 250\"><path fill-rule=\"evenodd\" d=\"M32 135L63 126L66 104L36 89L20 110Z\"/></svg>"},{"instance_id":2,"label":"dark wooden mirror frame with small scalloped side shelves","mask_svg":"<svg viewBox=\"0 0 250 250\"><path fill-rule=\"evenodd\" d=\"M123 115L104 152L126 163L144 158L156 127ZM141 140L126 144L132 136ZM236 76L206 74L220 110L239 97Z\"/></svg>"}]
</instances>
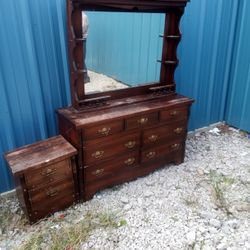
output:
<instances>
[{"instance_id":1,"label":"dark wooden mirror frame with small scalloped side shelves","mask_svg":"<svg viewBox=\"0 0 250 250\"><path fill-rule=\"evenodd\" d=\"M89 109L103 107L108 102L113 102L112 105L115 106L142 101L145 98L152 99L175 94L174 73L179 63L176 50L181 40L179 24L187 2L189 0L67 0L72 106L75 109ZM162 58L158 60L161 63L159 82L86 95L84 89L82 11L164 13L164 34L160 35L163 38ZM137 96L137 98L133 98L133 96ZM144 97L138 98L138 96Z\"/></svg>"}]
</instances>

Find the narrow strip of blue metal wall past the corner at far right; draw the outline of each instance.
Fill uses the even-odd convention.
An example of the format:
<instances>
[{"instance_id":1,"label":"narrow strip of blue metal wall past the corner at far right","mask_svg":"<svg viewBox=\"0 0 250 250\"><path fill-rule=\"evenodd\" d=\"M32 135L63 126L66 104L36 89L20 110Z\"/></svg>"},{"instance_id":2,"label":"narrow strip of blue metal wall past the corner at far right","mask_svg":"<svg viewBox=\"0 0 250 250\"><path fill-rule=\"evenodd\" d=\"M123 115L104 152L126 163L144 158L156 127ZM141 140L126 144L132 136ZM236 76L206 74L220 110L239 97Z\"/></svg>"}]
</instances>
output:
<instances>
[{"instance_id":1,"label":"narrow strip of blue metal wall past the corner at far right","mask_svg":"<svg viewBox=\"0 0 250 250\"><path fill-rule=\"evenodd\" d=\"M226 122L250 132L250 2L240 1ZM241 17L241 18L240 18Z\"/></svg>"}]
</instances>

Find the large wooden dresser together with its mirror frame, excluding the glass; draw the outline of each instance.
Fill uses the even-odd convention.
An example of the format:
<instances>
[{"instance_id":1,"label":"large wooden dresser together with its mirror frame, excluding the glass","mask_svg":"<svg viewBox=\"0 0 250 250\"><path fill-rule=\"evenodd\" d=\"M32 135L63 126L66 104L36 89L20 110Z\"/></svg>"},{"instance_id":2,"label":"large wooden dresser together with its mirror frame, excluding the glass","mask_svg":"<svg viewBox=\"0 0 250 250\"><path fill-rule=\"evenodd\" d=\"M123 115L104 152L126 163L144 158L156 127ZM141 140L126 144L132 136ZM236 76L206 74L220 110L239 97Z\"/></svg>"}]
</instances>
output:
<instances>
[{"instance_id":1,"label":"large wooden dresser together with its mirror frame, excluding the glass","mask_svg":"<svg viewBox=\"0 0 250 250\"><path fill-rule=\"evenodd\" d=\"M67 0L72 106L57 111L60 134L78 150L79 199L184 161L190 106L176 93L180 19L188 0ZM165 14L159 82L86 94L82 11ZM100 37L100 39L102 39Z\"/></svg>"}]
</instances>

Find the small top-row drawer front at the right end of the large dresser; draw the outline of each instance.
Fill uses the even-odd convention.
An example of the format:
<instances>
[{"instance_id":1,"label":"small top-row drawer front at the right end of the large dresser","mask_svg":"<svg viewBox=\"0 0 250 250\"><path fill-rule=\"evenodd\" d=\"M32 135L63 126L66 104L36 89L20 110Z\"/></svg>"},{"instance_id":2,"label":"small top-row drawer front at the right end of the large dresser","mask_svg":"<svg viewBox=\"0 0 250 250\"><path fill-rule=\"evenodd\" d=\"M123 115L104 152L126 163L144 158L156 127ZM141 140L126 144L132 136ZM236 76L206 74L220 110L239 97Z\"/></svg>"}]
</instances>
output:
<instances>
[{"instance_id":1,"label":"small top-row drawer front at the right end of the large dresser","mask_svg":"<svg viewBox=\"0 0 250 250\"><path fill-rule=\"evenodd\" d=\"M188 110L189 110L188 107L163 110L160 112L160 120L169 122L187 120Z\"/></svg>"}]
</instances>

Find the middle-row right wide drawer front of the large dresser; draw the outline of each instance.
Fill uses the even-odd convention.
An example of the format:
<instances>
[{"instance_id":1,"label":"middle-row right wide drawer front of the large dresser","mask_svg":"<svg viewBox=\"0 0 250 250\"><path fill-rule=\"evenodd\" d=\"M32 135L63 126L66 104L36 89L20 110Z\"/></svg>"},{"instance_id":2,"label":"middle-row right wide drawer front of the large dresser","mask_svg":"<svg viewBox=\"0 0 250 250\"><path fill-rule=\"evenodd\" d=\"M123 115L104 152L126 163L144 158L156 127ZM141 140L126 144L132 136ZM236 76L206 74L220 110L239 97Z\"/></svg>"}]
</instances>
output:
<instances>
[{"instance_id":1,"label":"middle-row right wide drawer front of the large dresser","mask_svg":"<svg viewBox=\"0 0 250 250\"><path fill-rule=\"evenodd\" d=\"M154 127L143 131L143 145L155 145L167 138L180 138L187 133L187 122Z\"/></svg>"}]
</instances>

